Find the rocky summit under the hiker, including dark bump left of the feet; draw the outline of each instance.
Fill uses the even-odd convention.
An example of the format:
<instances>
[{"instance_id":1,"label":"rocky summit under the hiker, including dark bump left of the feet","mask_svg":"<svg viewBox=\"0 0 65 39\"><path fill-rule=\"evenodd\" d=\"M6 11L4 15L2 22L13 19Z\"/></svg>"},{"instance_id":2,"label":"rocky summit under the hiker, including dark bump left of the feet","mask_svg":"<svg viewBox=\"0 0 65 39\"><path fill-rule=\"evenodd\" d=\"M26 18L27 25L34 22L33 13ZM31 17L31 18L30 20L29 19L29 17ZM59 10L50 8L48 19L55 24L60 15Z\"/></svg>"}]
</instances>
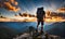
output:
<instances>
[{"instance_id":1,"label":"rocky summit under the hiker, including dark bump left of the feet","mask_svg":"<svg viewBox=\"0 0 65 39\"><path fill-rule=\"evenodd\" d=\"M55 35L50 35L48 32L40 34L40 31L38 31L38 34L37 34L36 29L34 27L29 27L29 31L24 32L20 36L17 35L13 39L65 39L65 38L62 38L62 37L55 36Z\"/></svg>"}]
</instances>

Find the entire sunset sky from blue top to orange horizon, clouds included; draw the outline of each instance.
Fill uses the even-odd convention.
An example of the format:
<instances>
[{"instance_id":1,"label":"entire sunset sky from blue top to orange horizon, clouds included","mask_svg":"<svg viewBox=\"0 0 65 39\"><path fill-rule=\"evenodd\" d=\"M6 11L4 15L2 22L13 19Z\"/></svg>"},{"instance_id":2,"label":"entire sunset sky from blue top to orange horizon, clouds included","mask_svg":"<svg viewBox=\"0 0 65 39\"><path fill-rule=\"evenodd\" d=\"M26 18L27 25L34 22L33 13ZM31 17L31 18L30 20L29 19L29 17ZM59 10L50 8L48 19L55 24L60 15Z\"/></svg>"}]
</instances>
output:
<instances>
[{"instance_id":1,"label":"entire sunset sky from blue top to orange horizon, clouds included","mask_svg":"<svg viewBox=\"0 0 65 39\"><path fill-rule=\"evenodd\" d=\"M0 0L0 22L37 22L37 9L41 6L44 22L65 22L64 4L63 0Z\"/></svg>"}]
</instances>

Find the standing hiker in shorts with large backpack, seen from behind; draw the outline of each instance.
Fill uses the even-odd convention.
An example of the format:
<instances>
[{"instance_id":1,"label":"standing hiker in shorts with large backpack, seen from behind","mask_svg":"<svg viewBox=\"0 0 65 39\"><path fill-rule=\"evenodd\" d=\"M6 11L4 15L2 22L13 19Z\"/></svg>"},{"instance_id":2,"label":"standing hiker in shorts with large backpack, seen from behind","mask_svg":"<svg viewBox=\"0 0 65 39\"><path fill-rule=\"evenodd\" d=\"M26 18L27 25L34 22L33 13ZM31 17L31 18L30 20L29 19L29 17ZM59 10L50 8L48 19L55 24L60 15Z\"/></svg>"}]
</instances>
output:
<instances>
[{"instance_id":1,"label":"standing hiker in shorts with large backpack, seen from behind","mask_svg":"<svg viewBox=\"0 0 65 39\"><path fill-rule=\"evenodd\" d=\"M43 8L38 8L37 9L37 30L38 30L38 26L41 23L41 32L43 32L43 22L46 17L46 12L43 11Z\"/></svg>"}]
</instances>

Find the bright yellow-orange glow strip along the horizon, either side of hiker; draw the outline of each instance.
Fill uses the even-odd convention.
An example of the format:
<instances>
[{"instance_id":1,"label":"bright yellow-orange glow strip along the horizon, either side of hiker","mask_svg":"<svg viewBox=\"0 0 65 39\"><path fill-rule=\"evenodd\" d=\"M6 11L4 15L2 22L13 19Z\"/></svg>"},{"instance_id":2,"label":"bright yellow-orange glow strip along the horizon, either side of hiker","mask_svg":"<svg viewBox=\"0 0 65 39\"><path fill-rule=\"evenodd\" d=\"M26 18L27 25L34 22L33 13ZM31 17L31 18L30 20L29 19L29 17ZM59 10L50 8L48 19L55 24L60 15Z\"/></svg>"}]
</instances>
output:
<instances>
[{"instance_id":1,"label":"bright yellow-orange glow strip along the horizon, either side of hiker","mask_svg":"<svg viewBox=\"0 0 65 39\"><path fill-rule=\"evenodd\" d=\"M0 22L37 22L36 17L21 17L16 16L16 18L0 18ZM62 17L52 17L52 18L44 18L44 22L65 22Z\"/></svg>"}]
</instances>

